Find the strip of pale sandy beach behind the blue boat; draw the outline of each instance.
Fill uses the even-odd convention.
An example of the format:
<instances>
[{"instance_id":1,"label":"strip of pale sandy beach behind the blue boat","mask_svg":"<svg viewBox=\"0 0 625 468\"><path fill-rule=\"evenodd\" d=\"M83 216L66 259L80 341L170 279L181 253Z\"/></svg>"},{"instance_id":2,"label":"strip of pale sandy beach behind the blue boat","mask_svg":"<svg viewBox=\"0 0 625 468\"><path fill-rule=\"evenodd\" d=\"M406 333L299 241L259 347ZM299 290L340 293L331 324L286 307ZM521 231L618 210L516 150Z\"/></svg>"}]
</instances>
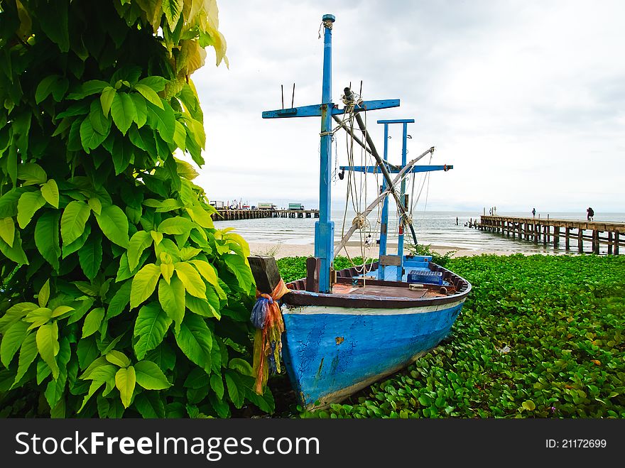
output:
<instances>
[{"instance_id":1,"label":"strip of pale sandy beach behind the blue boat","mask_svg":"<svg viewBox=\"0 0 625 468\"><path fill-rule=\"evenodd\" d=\"M395 253L397 244L388 244L388 252ZM366 258L377 258L378 256L377 245L366 246L364 251L358 242L348 242L347 246L339 253L341 256L364 256ZM312 256L315 251L314 244L285 244L285 243L267 243L267 242L250 242L249 250L252 255L273 256L276 259L282 259L283 257L293 256ZM470 250L459 249L452 246L431 246L430 250L437 254L446 254L449 251L454 251L453 256L473 256L482 254L496 254L496 255L510 255L516 253L515 251L487 251L487 250Z\"/></svg>"}]
</instances>

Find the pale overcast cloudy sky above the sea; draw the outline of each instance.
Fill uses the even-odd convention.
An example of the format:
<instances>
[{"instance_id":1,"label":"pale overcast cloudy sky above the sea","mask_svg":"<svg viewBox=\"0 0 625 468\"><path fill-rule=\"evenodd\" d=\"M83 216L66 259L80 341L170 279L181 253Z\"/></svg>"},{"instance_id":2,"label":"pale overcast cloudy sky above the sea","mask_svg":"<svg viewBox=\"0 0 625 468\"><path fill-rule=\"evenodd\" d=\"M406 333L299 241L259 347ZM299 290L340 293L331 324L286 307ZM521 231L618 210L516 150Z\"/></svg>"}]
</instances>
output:
<instances>
[{"instance_id":1,"label":"pale overcast cloudy sky above the sea","mask_svg":"<svg viewBox=\"0 0 625 468\"><path fill-rule=\"evenodd\" d=\"M415 119L408 159L435 146L431 164L454 165L430 173L419 209L625 212L625 2L217 3L229 68L208 49L192 75L207 133L195 182L211 200L316 207L320 118L261 113L281 109L281 85L285 107L293 83L295 107L321 102L318 31L332 13L332 101L361 81L365 100L401 99L366 113L378 151L378 119ZM390 129L388 159L401 163L401 126ZM345 165L344 132L335 140L333 163ZM374 176L366 186L360 206L375 197ZM335 207L346 193L347 177L335 180Z\"/></svg>"}]
</instances>

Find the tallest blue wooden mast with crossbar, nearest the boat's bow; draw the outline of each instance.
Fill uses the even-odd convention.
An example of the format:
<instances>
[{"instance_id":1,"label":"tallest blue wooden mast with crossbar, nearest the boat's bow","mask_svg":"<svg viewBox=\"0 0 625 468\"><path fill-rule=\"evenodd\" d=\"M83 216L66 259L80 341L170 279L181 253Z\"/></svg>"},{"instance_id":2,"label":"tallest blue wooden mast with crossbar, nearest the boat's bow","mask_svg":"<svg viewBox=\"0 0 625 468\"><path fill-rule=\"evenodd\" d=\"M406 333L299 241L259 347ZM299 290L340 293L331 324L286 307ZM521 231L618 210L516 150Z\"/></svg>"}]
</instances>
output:
<instances>
[{"instance_id":1,"label":"tallest blue wooden mast with crossbar, nearest the boat's bow","mask_svg":"<svg viewBox=\"0 0 625 468\"><path fill-rule=\"evenodd\" d=\"M334 260L334 222L330 219L332 209L330 180L332 175L332 116L344 114L346 109L338 109L332 103L332 25L335 16L326 14L322 17L323 35L323 82L321 104L264 111L263 119L285 117L321 116L321 150L319 172L319 221L315 223L315 256L321 259L319 274L319 290L327 293L331 290L330 269ZM364 101L353 111L360 112L373 109L397 107L399 99Z\"/></svg>"}]
</instances>

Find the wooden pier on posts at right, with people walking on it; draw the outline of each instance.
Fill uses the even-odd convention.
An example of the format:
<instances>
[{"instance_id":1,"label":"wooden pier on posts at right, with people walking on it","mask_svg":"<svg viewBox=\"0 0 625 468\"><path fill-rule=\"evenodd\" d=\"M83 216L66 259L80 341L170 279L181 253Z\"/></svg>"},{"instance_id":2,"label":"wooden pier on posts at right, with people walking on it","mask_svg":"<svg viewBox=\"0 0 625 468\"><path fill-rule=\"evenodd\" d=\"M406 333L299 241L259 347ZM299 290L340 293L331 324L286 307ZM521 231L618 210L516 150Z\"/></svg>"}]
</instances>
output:
<instances>
[{"instance_id":1,"label":"wooden pier on posts at right, with people walking on it","mask_svg":"<svg viewBox=\"0 0 625 468\"><path fill-rule=\"evenodd\" d=\"M619 254L619 246L625 247L624 222L580 221L576 219L550 219L536 217L481 216L478 229L501 232L502 236L515 239L542 242L543 245L553 244L560 249L560 241L564 239L565 249L571 249L571 242L577 241L577 251L584 251L584 241L592 245L592 253L599 254L599 246L607 245L608 254Z\"/></svg>"}]
</instances>

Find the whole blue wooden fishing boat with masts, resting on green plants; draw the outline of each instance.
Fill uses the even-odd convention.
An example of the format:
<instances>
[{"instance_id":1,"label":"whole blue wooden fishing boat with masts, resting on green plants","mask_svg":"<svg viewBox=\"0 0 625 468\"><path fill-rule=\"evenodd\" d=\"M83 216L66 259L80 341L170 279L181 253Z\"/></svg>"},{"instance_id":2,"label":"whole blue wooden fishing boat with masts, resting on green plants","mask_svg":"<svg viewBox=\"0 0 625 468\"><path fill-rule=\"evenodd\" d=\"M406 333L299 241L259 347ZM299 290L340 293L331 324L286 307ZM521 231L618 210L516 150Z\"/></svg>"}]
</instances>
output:
<instances>
[{"instance_id":1,"label":"whole blue wooden fishing boat with masts, resting on green plants","mask_svg":"<svg viewBox=\"0 0 625 468\"><path fill-rule=\"evenodd\" d=\"M447 171L453 166L417 165L418 160L433 153L433 147L407 160L407 126L413 119L378 121L384 125L385 136L384 155L379 155L360 114L398 107L399 99L364 101L351 87L346 87L342 96L344 107L332 102L334 23L334 16L323 16L322 103L263 112L264 119L321 117L320 219L315 223L315 256L307 261L306 278L286 285L273 258L249 257L259 291L252 315L258 328L254 359L256 389L261 390L269 366L279 369L282 356L292 386L306 408L341 401L436 347L450 332L471 290L468 281L433 263L431 256L404 253L406 228L411 232L413 244L418 244L408 210L406 176ZM335 129L332 120L337 122ZM403 127L401 165L392 165L387 160L388 128L393 124ZM341 166L340 177L343 178L345 171L381 174L384 182L379 196L357 213L352 226L335 245L335 226L330 219L331 149L332 136L339 129L347 131L352 141L375 159L371 165ZM396 200L399 216L395 254L387 252L389 197ZM378 260L336 271L333 259L354 232L364 229L366 216L379 205Z\"/></svg>"}]
</instances>

